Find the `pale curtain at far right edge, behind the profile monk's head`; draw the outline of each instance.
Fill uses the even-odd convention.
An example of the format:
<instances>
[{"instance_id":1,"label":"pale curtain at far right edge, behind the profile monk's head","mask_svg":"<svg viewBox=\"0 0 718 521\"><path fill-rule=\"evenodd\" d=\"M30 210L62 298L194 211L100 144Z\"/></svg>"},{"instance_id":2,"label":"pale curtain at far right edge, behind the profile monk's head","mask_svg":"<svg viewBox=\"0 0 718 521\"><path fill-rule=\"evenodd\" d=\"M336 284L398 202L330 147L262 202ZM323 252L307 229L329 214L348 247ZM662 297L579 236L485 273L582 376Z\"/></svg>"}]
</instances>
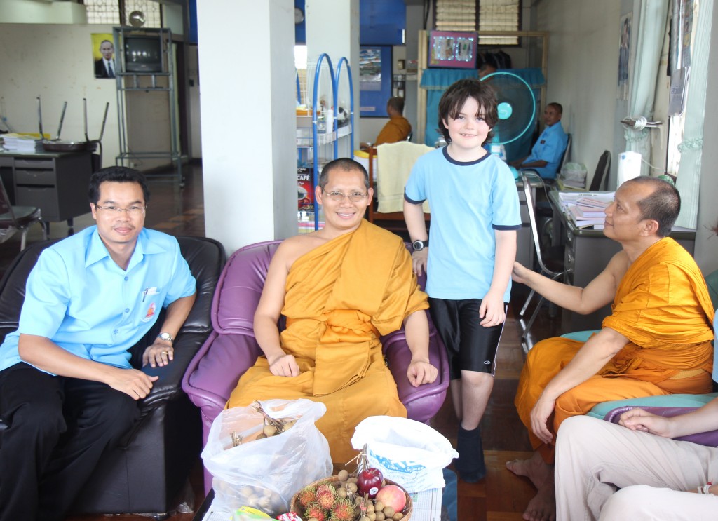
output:
<instances>
[{"instance_id":1,"label":"pale curtain at far right edge, behind the profile monk's head","mask_svg":"<svg viewBox=\"0 0 718 521\"><path fill-rule=\"evenodd\" d=\"M696 35L691 44L691 73L686 96L683 141L679 145L681 164L676 188L681 192L681 214L676 220L676 225L692 229L698 225L703 118L706 106L713 3L714 0L700 0L698 16L694 19L694 24L697 24ZM709 199L714 198L714 194L706 195Z\"/></svg>"}]
</instances>

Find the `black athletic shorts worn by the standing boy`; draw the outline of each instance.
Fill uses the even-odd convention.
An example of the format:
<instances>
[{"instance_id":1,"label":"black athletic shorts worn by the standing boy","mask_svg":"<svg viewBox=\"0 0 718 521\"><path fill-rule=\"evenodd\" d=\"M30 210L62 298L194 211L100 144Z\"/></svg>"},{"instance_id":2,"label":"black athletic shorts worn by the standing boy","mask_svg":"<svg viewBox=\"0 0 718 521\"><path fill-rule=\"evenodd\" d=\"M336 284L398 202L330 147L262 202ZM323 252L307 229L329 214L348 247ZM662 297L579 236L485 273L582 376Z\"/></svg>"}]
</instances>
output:
<instances>
[{"instance_id":1,"label":"black athletic shorts worn by the standing boy","mask_svg":"<svg viewBox=\"0 0 718 521\"><path fill-rule=\"evenodd\" d=\"M488 372L496 369L496 352L503 324L483 327L479 319L481 299L445 300L429 297L429 312L449 355L449 377L457 380L462 371ZM504 311L508 304L504 303Z\"/></svg>"}]
</instances>

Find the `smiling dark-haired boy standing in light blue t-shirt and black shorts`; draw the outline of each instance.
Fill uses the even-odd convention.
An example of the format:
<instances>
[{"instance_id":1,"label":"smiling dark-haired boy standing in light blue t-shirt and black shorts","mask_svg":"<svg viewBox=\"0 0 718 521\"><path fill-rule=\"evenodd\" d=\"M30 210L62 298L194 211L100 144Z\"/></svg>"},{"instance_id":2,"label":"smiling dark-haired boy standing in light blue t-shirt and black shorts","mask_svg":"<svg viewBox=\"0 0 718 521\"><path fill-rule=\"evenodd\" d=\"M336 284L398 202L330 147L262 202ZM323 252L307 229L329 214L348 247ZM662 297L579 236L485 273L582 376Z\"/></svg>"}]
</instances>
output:
<instances>
[{"instance_id":1,"label":"smiling dark-haired boy standing in light blue t-shirt and black shorts","mask_svg":"<svg viewBox=\"0 0 718 521\"><path fill-rule=\"evenodd\" d=\"M414 271L426 270L429 311L449 354L461 422L456 468L467 482L486 474L479 423L493 388L521 227L513 174L483 148L498 122L496 104L493 90L478 79L451 85L439 101L448 145L416 161L404 191ZM430 250L424 200L432 211Z\"/></svg>"}]
</instances>

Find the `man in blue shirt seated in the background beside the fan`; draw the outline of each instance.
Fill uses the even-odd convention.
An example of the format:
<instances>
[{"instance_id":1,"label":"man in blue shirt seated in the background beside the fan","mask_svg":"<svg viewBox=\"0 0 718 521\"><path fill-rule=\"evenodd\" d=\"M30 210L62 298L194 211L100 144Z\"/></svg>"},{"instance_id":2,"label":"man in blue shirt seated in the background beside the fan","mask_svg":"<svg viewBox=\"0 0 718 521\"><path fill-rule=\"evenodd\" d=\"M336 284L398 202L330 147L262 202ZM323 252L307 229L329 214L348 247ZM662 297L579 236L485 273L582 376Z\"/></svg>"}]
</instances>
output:
<instances>
[{"instance_id":1,"label":"man in blue shirt seated in the background beside the fan","mask_svg":"<svg viewBox=\"0 0 718 521\"><path fill-rule=\"evenodd\" d=\"M561 157L566 151L569 137L561 126L564 108L559 103L549 103L544 110L546 128L538 136L538 141L531 149L531 155L523 159L511 161L511 166L518 169L532 169L538 172L541 179L556 179Z\"/></svg>"}]
</instances>

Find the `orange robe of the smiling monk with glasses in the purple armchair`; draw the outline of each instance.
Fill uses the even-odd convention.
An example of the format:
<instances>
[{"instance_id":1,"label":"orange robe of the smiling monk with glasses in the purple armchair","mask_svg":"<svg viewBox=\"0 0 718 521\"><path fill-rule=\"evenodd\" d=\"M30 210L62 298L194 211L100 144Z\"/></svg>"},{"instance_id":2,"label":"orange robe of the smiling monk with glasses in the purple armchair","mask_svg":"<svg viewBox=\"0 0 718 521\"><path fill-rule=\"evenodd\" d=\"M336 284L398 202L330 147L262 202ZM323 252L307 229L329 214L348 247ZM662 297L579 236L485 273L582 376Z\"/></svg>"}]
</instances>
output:
<instances>
[{"instance_id":1,"label":"orange robe of the smiling monk with glasses in the purple armchair","mask_svg":"<svg viewBox=\"0 0 718 521\"><path fill-rule=\"evenodd\" d=\"M350 439L368 416L406 418L379 337L429 307L401 238L363 221L294 261L286 280L281 347L294 355L297 377L274 376L259 357L240 378L227 408L253 400L308 398L327 405L317 428L332 461L357 452Z\"/></svg>"}]
</instances>

